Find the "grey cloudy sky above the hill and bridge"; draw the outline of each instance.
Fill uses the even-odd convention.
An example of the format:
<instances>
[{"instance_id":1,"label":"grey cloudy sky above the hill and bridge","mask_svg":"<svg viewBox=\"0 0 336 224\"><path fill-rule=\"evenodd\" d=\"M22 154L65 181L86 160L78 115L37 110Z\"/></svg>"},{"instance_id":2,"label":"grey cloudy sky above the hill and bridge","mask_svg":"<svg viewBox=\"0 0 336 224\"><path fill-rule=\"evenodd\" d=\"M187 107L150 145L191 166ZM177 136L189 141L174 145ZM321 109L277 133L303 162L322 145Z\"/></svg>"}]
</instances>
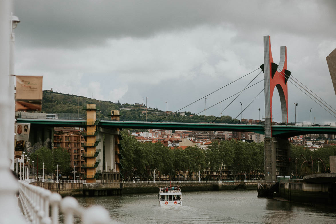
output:
<instances>
[{"instance_id":1,"label":"grey cloudy sky above the hill and bridge","mask_svg":"<svg viewBox=\"0 0 336 224\"><path fill-rule=\"evenodd\" d=\"M43 89L121 103L178 110L263 63L263 36L279 63L287 46L288 70L336 108L326 56L336 48L336 1L14 1L15 73L43 76ZM207 107L233 95L259 73L208 96ZM261 73L254 82L263 79ZM237 117L263 89L244 91L223 115ZM336 119L292 83L289 121ZM232 98L233 99L233 98ZM272 111L281 120L279 94ZM222 102L222 109L230 99ZM261 94L243 118L264 115ZM183 109L198 113L204 99ZM220 105L207 110L219 115ZM204 114L204 113L201 113ZM239 116L240 117L240 116Z\"/></svg>"}]
</instances>

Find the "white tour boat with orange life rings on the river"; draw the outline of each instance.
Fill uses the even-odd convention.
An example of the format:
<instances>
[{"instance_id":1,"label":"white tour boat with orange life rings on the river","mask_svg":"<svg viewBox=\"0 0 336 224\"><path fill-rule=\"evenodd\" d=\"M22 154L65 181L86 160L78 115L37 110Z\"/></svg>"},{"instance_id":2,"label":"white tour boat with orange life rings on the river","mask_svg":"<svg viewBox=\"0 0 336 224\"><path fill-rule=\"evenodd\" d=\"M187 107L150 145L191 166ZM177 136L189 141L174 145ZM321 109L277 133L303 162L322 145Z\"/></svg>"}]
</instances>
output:
<instances>
[{"instance_id":1,"label":"white tour boat with orange life rings on the river","mask_svg":"<svg viewBox=\"0 0 336 224\"><path fill-rule=\"evenodd\" d=\"M159 189L160 206L182 206L182 192L178 187L164 187Z\"/></svg>"}]
</instances>

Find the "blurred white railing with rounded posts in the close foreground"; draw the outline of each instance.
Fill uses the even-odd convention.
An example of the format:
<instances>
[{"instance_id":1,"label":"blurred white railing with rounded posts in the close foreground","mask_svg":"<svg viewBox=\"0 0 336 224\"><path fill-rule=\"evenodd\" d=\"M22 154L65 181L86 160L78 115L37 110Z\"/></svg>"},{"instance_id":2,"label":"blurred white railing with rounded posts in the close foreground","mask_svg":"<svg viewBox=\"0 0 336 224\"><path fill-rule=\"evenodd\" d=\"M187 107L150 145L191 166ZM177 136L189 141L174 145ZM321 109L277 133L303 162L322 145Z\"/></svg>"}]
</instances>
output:
<instances>
[{"instance_id":1,"label":"blurred white railing with rounded posts in the close foreground","mask_svg":"<svg viewBox=\"0 0 336 224\"><path fill-rule=\"evenodd\" d=\"M109 212L101 206L80 207L74 197L62 198L58 193L29 184L32 180L19 182L19 199L27 223L57 224L59 209L66 224L74 223L74 215L83 223L111 223ZM49 208L51 214L49 214Z\"/></svg>"}]
</instances>

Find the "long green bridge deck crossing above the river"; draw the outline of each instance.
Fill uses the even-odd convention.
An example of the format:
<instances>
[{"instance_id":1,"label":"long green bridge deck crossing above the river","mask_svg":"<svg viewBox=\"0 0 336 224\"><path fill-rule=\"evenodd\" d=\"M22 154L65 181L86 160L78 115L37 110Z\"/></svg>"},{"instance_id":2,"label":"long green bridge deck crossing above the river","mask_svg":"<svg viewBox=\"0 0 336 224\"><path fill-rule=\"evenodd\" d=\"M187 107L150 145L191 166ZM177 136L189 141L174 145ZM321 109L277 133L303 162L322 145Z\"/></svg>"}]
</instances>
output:
<instances>
[{"instance_id":1,"label":"long green bridge deck crossing above the river","mask_svg":"<svg viewBox=\"0 0 336 224\"><path fill-rule=\"evenodd\" d=\"M86 127L85 120L61 119L28 119L18 118L17 123L31 123L33 127ZM264 134L262 124L220 124L220 123L183 123L183 122L145 122L145 121L111 121L101 120L98 124L103 128L134 128L134 129L170 129L198 131L241 131ZM317 125L272 125L272 136L289 138L303 134L335 134L336 126Z\"/></svg>"}]
</instances>

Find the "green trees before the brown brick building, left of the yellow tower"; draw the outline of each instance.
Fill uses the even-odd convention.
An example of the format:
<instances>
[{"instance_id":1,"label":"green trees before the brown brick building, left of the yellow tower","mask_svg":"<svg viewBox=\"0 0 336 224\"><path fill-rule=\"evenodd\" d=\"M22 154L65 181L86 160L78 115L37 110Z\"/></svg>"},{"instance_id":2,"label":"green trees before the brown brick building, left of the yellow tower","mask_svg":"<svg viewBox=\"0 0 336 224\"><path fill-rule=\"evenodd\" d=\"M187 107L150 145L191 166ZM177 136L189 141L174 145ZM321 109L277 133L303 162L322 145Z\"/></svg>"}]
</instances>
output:
<instances>
[{"instance_id":1,"label":"green trees before the brown brick building, left of the yellow tower","mask_svg":"<svg viewBox=\"0 0 336 224\"><path fill-rule=\"evenodd\" d=\"M44 163L45 174L55 174L58 170L66 176L70 175L70 153L64 151L62 148L48 149L42 147L35 152L28 154L30 163L34 161L34 167L39 168L39 173L42 175L42 168ZM60 174L60 173L59 173Z\"/></svg>"}]
</instances>

